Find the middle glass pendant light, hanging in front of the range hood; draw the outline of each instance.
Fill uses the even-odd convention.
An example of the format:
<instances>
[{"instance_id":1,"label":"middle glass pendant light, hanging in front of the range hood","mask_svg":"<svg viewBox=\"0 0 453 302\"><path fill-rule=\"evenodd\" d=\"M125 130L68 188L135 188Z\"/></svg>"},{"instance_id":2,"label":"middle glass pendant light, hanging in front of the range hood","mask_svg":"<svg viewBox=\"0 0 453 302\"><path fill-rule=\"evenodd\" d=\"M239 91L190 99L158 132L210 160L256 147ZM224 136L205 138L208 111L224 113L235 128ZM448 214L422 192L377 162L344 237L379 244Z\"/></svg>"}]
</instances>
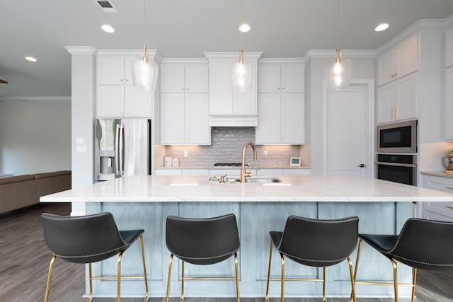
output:
<instances>
[{"instance_id":1,"label":"middle glass pendant light, hanging in front of the range hood","mask_svg":"<svg viewBox=\"0 0 453 302\"><path fill-rule=\"evenodd\" d=\"M242 0L241 0L241 23L242 23ZM243 25L239 27L239 35L241 40L241 49L239 50L239 58L229 64L229 77L231 81L231 89L233 91L245 92L252 88L253 79L253 63L243 58L242 50L242 32Z\"/></svg>"}]
</instances>

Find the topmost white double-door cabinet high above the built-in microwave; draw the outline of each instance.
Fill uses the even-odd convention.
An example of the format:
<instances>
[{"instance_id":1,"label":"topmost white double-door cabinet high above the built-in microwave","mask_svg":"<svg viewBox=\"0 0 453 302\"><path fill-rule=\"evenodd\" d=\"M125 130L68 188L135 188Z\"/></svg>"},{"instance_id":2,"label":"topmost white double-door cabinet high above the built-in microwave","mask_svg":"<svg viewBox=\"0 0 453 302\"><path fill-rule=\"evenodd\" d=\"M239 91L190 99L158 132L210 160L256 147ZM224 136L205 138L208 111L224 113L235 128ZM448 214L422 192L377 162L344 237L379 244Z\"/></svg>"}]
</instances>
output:
<instances>
[{"instance_id":1,"label":"topmost white double-door cabinet high above the built-in microwave","mask_svg":"<svg viewBox=\"0 0 453 302\"><path fill-rule=\"evenodd\" d=\"M377 86L418 70L418 34L411 35L377 57Z\"/></svg>"}]
</instances>

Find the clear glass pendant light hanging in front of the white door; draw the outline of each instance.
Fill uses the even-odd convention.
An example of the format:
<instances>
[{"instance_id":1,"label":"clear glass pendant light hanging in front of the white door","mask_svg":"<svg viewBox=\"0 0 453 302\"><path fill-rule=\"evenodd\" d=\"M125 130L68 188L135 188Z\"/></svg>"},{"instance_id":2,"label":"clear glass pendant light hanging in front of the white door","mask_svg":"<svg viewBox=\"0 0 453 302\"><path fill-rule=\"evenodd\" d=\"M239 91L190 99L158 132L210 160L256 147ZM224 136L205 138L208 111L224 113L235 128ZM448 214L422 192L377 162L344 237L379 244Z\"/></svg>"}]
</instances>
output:
<instances>
[{"instance_id":1,"label":"clear glass pendant light hanging in front of the white door","mask_svg":"<svg viewBox=\"0 0 453 302\"><path fill-rule=\"evenodd\" d=\"M342 91L349 87L352 76L352 61L341 57L338 43L338 28L340 23L340 0L337 0L337 50L335 60L326 64L327 88L331 91Z\"/></svg>"}]
</instances>

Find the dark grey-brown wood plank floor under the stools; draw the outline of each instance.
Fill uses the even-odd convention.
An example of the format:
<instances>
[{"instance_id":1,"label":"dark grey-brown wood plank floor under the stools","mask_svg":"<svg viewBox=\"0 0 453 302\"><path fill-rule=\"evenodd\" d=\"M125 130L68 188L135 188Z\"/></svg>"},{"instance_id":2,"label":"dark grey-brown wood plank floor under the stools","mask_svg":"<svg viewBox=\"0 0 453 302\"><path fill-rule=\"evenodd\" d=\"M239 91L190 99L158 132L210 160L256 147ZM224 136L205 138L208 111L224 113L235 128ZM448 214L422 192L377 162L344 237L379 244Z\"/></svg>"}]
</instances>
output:
<instances>
[{"instance_id":1,"label":"dark grey-brown wood plank floor under the stools","mask_svg":"<svg viewBox=\"0 0 453 302\"><path fill-rule=\"evenodd\" d=\"M0 216L0 302L44 301L47 269L52 254L42 238L40 214L69 214L69 204L40 204L36 207ZM85 301L84 265L55 262L50 299L52 302ZM150 289L152 291L152 289ZM418 302L453 302L453 272L418 272ZM280 301L271 298L271 302ZM392 298L358 298L360 302L391 302ZM116 298L94 298L93 302L114 302ZM142 302L142 298L122 298L124 302ZM165 298L150 298L164 302ZM177 302L179 298L171 298ZM234 298L185 298L185 302L234 302ZM241 298L243 302L264 302L265 298ZM287 298L287 302L316 302L322 298ZM329 302L348 302L348 298L329 298ZM401 302L410 299L400 299Z\"/></svg>"}]
</instances>

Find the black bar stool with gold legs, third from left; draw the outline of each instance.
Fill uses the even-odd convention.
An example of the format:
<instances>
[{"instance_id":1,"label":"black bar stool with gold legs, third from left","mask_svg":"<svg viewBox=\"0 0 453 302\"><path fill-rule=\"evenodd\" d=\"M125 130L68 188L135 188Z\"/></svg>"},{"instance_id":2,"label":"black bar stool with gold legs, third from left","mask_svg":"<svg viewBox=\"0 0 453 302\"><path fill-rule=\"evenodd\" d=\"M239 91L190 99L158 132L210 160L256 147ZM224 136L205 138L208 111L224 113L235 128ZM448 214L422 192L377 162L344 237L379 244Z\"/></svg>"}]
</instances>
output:
<instances>
[{"instance_id":1,"label":"black bar stool with gold legs, third from left","mask_svg":"<svg viewBox=\"0 0 453 302\"><path fill-rule=\"evenodd\" d=\"M322 281L323 301L326 302L326 267L336 265L348 259L352 301L355 298L354 277L350 255L357 245L359 218L351 216L342 219L309 219L289 216L285 230L270 231L270 252L268 267L268 284L265 301L269 302L269 281L281 281L281 302L285 301L285 280L287 281ZM282 275L270 278L273 245L280 252ZM285 278L285 257L310 267L322 267L322 279Z\"/></svg>"}]
</instances>

